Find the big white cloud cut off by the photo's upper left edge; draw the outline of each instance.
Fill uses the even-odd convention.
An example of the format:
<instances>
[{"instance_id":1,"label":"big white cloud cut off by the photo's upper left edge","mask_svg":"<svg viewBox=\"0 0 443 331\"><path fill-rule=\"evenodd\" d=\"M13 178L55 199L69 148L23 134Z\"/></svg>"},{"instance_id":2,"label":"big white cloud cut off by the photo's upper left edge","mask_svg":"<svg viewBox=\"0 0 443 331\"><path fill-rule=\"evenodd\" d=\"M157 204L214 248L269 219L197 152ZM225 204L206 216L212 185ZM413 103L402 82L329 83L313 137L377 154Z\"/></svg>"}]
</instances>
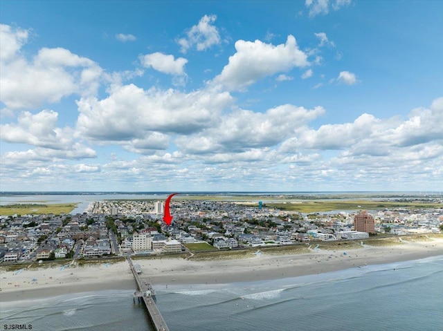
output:
<instances>
[{"instance_id":1,"label":"big white cloud cut off by the photo's upper left edge","mask_svg":"<svg viewBox=\"0 0 443 331\"><path fill-rule=\"evenodd\" d=\"M8 108L35 108L73 93L97 92L102 69L91 59L64 48L42 48L28 62L19 54L26 32L2 26L1 34L0 100Z\"/></svg>"}]
</instances>

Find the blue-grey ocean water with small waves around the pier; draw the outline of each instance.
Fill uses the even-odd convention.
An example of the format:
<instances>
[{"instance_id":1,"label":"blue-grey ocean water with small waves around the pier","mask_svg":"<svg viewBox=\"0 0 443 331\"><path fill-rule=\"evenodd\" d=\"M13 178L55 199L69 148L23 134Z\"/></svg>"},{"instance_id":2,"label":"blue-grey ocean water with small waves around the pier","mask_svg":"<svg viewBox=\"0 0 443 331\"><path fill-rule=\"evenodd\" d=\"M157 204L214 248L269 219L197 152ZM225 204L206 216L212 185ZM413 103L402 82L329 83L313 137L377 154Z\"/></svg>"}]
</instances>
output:
<instances>
[{"instance_id":1,"label":"blue-grey ocean water with small waves around the pier","mask_svg":"<svg viewBox=\"0 0 443 331\"><path fill-rule=\"evenodd\" d=\"M154 288L170 330L443 330L443 256L275 281ZM152 330L132 292L2 302L0 328Z\"/></svg>"}]
</instances>

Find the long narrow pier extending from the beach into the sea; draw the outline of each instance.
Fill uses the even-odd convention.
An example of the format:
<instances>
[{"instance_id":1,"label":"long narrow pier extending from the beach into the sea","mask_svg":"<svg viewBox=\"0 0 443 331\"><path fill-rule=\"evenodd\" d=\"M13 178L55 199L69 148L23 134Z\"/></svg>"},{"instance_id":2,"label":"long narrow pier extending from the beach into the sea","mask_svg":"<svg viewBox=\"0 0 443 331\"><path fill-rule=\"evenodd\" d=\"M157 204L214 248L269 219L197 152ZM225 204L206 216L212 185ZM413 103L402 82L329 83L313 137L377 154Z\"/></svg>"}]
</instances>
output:
<instances>
[{"instance_id":1,"label":"long narrow pier extending from the beach into the sea","mask_svg":"<svg viewBox=\"0 0 443 331\"><path fill-rule=\"evenodd\" d=\"M154 289L151 287L150 283L140 279L129 256L127 257L127 261L129 262L129 267L131 267L132 274L134 274L134 278L136 278L138 287L138 292L134 293L134 298L143 299L152 325L154 325L156 331L169 331L168 325L166 325L165 320L163 319L163 316L161 316L159 308L157 308L154 301Z\"/></svg>"}]
</instances>

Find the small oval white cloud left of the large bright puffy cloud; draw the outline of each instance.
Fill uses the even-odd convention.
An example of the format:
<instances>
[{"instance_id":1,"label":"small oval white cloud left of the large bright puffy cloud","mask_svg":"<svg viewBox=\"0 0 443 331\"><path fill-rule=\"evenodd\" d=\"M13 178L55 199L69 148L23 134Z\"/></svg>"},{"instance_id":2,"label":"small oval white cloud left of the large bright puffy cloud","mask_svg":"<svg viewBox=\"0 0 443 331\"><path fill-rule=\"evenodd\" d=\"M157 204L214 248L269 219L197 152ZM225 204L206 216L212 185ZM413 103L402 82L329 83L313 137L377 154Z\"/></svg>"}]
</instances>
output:
<instances>
[{"instance_id":1,"label":"small oval white cloud left of the large bright puffy cloud","mask_svg":"<svg viewBox=\"0 0 443 331\"><path fill-rule=\"evenodd\" d=\"M184 66L188 60L179 57L174 59L174 55L165 55L163 53L152 53L140 56L140 62L146 68L154 68L154 70L166 73L168 75L185 75Z\"/></svg>"}]
</instances>

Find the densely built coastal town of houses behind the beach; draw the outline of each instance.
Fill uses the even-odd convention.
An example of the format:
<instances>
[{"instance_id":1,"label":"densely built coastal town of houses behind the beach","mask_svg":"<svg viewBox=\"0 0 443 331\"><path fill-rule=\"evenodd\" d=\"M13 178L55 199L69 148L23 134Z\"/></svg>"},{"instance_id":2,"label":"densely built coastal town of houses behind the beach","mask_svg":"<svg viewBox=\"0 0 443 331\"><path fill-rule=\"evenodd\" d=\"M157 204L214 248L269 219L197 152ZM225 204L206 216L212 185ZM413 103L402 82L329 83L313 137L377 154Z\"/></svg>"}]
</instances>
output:
<instances>
[{"instance_id":1,"label":"densely built coastal town of houses behind the beach","mask_svg":"<svg viewBox=\"0 0 443 331\"><path fill-rule=\"evenodd\" d=\"M171 210L170 226L163 222L164 202L155 200L96 201L75 215L0 216L0 261L177 254L190 247L272 247L443 229L443 210L433 208L303 214L262 202L179 200Z\"/></svg>"}]
</instances>

